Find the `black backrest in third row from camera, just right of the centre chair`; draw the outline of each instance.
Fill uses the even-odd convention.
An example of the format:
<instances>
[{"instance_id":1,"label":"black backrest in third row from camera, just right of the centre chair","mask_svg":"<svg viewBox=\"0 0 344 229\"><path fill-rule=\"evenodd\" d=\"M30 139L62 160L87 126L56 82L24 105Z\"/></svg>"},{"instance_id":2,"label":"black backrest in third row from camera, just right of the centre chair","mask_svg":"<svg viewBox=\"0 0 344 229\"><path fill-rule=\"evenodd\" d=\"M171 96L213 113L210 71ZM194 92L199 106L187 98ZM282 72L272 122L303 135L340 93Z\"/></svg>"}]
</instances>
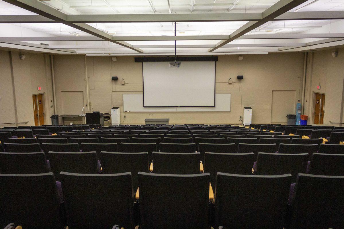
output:
<instances>
[{"instance_id":1,"label":"black backrest in third row from camera, just right of the centre chair","mask_svg":"<svg viewBox=\"0 0 344 229\"><path fill-rule=\"evenodd\" d=\"M213 143L199 143L198 152L201 153L201 161L204 162L204 153L236 153L238 146L235 143L229 144L213 144Z\"/></svg>"}]
</instances>

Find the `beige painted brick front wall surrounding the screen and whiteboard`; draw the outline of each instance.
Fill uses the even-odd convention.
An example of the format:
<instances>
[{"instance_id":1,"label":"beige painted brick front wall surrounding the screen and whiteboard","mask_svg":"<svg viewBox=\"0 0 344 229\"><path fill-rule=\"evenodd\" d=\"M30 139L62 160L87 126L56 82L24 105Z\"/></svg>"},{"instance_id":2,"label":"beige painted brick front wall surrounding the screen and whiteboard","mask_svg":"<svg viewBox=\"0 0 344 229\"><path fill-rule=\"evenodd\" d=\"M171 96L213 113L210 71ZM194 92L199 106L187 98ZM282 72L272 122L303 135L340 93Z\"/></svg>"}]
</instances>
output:
<instances>
[{"instance_id":1,"label":"beige painted brick front wall surrounding the screen and whiteboard","mask_svg":"<svg viewBox=\"0 0 344 229\"><path fill-rule=\"evenodd\" d=\"M54 56L58 114L62 114L61 91L83 91L84 104L87 104L86 71L89 100L92 102L90 111L93 108L94 111L110 113L111 107L119 106L122 122L126 115L124 124L143 124L145 118L170 118L172 124L240 123L243 106L253 108L253 123L270 123L272 91L295 91L294 98L289 101L292 106L302 94L299 91L303 77L302 53L244 55L244 60L238 60L237 55L221 55L216 62L216 93L232 94L230 112L124 113L123 94L142 94L142 63L135 62L133 56L119 56L117 61L108 56L88 56L86 64L84 58L76 55ZM244 79L239 82L237 75L244 75ZM111 76L117 76L119 80L112 81ZM126 81L125 85L120 84L122 78ZM228 78L232 78L234 83L228 84ZM279 110L276 112L278 117L286 116Z\"/></svg>"}]
</instances>

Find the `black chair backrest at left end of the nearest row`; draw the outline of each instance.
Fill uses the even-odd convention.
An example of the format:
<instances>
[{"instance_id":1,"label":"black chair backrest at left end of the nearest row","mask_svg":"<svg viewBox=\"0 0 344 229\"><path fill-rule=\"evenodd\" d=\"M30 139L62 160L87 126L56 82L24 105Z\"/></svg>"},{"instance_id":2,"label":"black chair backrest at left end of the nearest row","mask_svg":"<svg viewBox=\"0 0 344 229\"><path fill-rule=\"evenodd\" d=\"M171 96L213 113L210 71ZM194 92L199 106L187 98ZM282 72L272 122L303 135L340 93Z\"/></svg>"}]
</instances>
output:
<instances>
[{"instance_id":1,"label":"black chair backrest at left end of the nearest row","mask_svg":"<svg viewBox=\"0 0 344 229\"><path fill-rule=\"evenodd\" d=\"M53 173L0 174L0 225L63 229Z\"/></svg>"}]
</instances>

